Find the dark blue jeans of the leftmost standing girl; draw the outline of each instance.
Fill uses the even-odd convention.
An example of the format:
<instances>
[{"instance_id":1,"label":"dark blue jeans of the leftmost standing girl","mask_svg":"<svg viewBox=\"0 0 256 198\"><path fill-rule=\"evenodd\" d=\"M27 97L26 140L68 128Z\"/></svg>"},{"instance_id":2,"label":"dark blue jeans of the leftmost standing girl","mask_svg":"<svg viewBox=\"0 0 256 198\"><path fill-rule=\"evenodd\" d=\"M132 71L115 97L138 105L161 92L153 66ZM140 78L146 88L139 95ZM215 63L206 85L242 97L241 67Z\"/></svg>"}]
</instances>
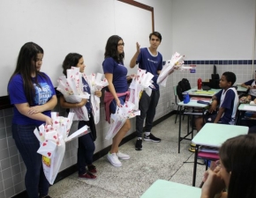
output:
<instances>
[{"instance_id":1,"label":"dark blue jeans of the leftmost standing girl","mask_svg":"<svg viewBox=\"0 0 256 198\"><path fill-rule=\"evenodd\" d=\"M12 124L12 136L26 165L25 186L30 198L45 196L49 191L49 181L45 178L41 164L41 154L37 153L40 147L34 136L34 125Z\"/></svg>"}]
</instances>

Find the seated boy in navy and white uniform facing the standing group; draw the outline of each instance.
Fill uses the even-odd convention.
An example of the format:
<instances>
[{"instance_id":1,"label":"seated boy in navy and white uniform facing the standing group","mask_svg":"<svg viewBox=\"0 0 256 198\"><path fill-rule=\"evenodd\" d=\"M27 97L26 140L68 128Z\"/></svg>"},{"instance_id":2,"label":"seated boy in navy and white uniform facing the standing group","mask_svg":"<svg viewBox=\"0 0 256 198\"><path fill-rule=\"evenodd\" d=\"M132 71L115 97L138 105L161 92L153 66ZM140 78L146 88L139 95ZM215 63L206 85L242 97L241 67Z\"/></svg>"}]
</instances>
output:
<instances>
[{"instance_id":1,"label":"seated boy in navy and white uniform facing the standing group","mask_svg":"<svg viewBox=\"0 0 256 198\"><path fill-rule=\"evenodd\" d=\"M202 117L200 117L195 121L197 131L200 131L206 122L235 124L239 99L237 90L232 87L232 85L236 82L236 80L237 77L233 72L226 71L222 74L220 80L220 87L222 90L213 96L212 105L208 110L209 114L204 117L204 120ZM213 114L218 105L219 111L216 114Z\"/></svg>"}]
</instances>

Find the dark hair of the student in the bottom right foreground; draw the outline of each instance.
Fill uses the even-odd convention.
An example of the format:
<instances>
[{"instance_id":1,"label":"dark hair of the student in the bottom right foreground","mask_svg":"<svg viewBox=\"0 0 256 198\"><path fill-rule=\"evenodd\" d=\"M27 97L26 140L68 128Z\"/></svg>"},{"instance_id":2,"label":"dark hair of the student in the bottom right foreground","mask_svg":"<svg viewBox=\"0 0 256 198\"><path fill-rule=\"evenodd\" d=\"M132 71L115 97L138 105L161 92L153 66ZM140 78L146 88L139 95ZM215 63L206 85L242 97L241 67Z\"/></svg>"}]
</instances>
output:
<instances>
[{"instance_id":1,"label":"dark hair of the student in the bottom right foreground","mask_svg":"<svg viewBox=\"0 0 256 198\"><path fill-rule=\"evenodd\" d=\"M230 175L229 198L256 198L256 135L230 138L219 150Z\"/></svg>"}]
</instances>

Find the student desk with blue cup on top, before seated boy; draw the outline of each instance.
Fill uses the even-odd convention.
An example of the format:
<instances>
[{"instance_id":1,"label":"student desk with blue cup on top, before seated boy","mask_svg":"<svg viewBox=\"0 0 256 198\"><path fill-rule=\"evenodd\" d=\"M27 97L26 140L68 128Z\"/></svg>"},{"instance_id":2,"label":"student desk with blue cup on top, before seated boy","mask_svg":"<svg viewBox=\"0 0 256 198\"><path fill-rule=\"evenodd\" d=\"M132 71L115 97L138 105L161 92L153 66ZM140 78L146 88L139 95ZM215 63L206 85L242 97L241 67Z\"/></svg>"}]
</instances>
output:
<instances>
[{"instance_id":1,"label":"student desk with blue cup on top, before seated boy","mask_svg":"<svg viewBox=\"0 0 256 198\"><path fill-rule=\"evenodd\" d=\"M190 101L189 103L187 104L184 104L184 102L179 102L177 103L178 106L186 106L186 107L192 107L192 112L185 112L184 111L179 111L179 125L178 125L178 145L177 145L177 152L179 153L180 152L180 142L182 140L192 140L192 138L187 138L187 136L190 136L192 135L193 137L193 125L192 125L192 131L189 131L189 127L190 127L190 122L189 122L189 119L187 119L187 134L185 136L181 136L181 115L184 114L184 115L203 115L204 116L204 112L205 112L205 109L208 105L205 105L205 104L200 104L200 103L197 103L195 101ZM194 112L194 108L200 108L202 109L202 112L199 112L199 113L196 113ZM180 108L181 109L181 108ZM193 121L193 119L192 119Z\"/></svg>"}]
</instances>

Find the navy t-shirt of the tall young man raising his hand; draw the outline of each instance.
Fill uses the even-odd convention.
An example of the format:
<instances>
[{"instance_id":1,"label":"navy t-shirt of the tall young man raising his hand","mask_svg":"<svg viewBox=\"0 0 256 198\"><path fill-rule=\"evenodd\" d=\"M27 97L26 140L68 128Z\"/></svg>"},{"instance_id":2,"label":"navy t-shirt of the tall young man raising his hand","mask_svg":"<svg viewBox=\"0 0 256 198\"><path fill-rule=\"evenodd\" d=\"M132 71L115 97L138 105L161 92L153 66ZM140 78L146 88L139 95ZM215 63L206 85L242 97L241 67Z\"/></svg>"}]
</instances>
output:
<instances>
[{"instance_id":1,"label":"navy t-shirt of the tall young man raising his hand","mask_svg":"<svg viewBox=\"0 0 256 198\"><path fill-rule=\"evenodd\" d=\"M154 75L154 87L156 90L159 89L159 85L156 84L157 81L157 71L162 70L162 55L157 52L157 55L152 55L148 48L140 48L140 52L136 63L139 63L139 68L142 70L147 70Z\"/></svg>"}]
</instances>

